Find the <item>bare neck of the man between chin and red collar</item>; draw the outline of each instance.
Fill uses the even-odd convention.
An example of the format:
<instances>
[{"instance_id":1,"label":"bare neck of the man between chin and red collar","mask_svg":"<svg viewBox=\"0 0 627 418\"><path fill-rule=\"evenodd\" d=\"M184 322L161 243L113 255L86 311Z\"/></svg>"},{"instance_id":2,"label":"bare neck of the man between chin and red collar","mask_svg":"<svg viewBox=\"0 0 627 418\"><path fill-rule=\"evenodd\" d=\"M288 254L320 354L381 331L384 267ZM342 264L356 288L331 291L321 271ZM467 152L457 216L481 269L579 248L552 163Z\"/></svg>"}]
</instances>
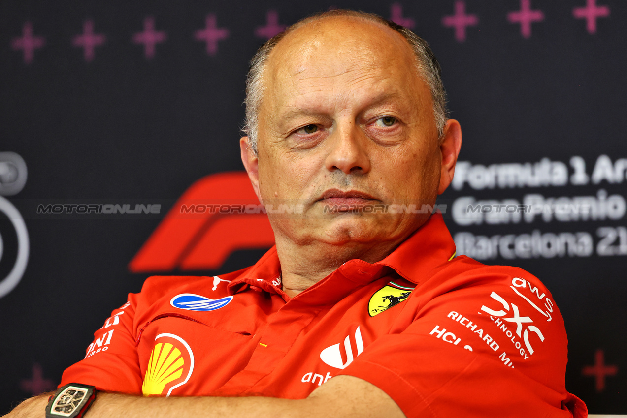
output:
<instances>
[{"instance_id":1,"label":"bare neck of the man between chin and red collar","mask_svg":"<svg viewBox=\"0 0 627 418\"><path fill-rule=\"evenodd\" d=\"M277 255L281 263L283 292L289 297L307 290L327 277L340 265L359 258L375 263L387 257L403 240L377 243L329 245L314 242L300 245L277 237Z\"/></svg>"}]
</instances>

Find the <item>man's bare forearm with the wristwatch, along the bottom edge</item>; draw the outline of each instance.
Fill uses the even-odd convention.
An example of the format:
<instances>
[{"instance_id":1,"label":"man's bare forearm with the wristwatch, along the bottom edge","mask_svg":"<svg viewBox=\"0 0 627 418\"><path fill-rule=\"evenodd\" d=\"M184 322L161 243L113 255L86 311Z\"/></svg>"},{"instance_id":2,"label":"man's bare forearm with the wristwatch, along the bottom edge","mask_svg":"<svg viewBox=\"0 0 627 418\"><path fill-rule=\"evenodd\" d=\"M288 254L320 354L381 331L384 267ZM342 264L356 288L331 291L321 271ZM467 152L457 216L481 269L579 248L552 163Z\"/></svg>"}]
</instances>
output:
<instances>
[{"instance_id":1,"label":"man's bare forearm with the wristwatch, along the bottom edge","mask_svg":"<svg viewBox=\"0 0 627 418\"><path fill-rule=\"evenodd\" d=\"M5 418L41 418L50 394L25 400ZM87 418L389 417L405 415L386 392L349 375L330 379L305 399L271 397L142 397L98 392Z\"/></svg>"}]
</instances>

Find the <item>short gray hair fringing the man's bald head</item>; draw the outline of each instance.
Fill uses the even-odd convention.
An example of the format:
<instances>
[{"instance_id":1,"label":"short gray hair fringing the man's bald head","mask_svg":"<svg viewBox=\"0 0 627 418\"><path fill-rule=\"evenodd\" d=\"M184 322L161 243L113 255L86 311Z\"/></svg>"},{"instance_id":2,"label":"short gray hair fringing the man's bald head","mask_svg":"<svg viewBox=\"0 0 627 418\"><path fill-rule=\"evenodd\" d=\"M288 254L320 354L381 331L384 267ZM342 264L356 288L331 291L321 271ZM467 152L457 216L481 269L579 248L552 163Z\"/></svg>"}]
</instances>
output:
<instances>
[{"instance_id":1,"label":"short gray hair fringing the man's bald head","mask_svg":"<svg viewBox=\"0 0 627 418\"><path fill-rule=\"evenodd\" d=\"M438 63L433 51L429 48L429 44L404 26L384 19L378 14L339 9L314 14L313 16L301 19L297 23L292 24L292 26L285 29L285 31L277 34L263 44L261 48L258 49L253 59L251 59L250 69L248 71L248 76L246 77L246 100L244 101L246 104L246 116L242 131L248 135L249 144L253 149L253 152L255 152L255 155L257 155L259 110L266 87L264 70L270 53L274 47L277 46L279 41L281 41L281 39L295 29L300 28L300 26L310 23L311 21L335 16L349 16L353 18L361 18L366 21L381 23L384 26L394 29L394 31L398 32L406 39L414 52L414 56L416 57L415 65L418 75L424 80L431 91L433 114L435 115L435 123L438 128L438 137L441 139L444 133L446 120L448 119L446 91L444 89L444 84L442 83L440 63Z\"/></svg>"}]
</instances>

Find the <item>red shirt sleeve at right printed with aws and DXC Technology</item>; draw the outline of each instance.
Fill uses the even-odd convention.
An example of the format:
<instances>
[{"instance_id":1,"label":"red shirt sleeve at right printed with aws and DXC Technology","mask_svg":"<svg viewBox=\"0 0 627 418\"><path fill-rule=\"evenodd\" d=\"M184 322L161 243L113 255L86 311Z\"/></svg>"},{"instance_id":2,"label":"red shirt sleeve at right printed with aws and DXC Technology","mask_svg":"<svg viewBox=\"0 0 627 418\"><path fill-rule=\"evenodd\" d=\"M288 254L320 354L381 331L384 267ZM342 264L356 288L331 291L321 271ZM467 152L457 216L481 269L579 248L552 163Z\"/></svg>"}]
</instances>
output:
<instances>
[{"instance_id":1,"label":"red shirt sleeve at right printed with aws and DXC Technology","mask_svg":"<svg viewBox=\"0 0 627 418\"><path fill-rule=\"evenodd\" d=\"M339 374L376 385L408 417L587 416L565 389L559 310L537 278L517 273L486 267L445 291L417 288L426 295L408 298L401 313L413 316L410 325L372 342Z\"/></svg>"}]
</instances>

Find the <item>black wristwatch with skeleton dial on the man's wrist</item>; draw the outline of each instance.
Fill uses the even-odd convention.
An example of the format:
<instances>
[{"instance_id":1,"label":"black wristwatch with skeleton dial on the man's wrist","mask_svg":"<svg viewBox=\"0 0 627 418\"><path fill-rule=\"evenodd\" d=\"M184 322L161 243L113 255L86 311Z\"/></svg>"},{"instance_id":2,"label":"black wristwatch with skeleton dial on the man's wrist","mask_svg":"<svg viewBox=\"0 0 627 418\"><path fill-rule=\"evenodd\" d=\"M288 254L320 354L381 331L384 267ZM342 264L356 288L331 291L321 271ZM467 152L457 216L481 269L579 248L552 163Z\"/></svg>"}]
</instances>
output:
<instances>
[{"instance_id":1,"label":"black wristwatch with skeleton dial on the man's wrist","mask_svg":"<svg viewBox=\"0 0 627 418\"><path fill-rule=\"evenodd\" d=\"M60 387L46 405L46 418L81 418L92 405L96 388L81 383Z\"/></svg>"}]
</instances>

